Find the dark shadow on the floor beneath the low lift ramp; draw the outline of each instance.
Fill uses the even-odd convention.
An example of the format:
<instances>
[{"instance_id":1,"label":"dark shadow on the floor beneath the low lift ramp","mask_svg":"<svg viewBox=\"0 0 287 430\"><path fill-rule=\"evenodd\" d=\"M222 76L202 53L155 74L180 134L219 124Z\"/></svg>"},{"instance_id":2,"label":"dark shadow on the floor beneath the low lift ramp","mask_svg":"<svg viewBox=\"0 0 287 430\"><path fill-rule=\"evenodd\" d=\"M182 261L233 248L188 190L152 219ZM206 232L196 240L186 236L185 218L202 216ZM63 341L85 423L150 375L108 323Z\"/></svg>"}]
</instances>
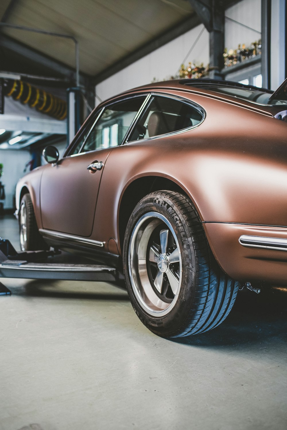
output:
<instances>
[{"instance_id":1,"label":"dark shadow on the floor beneath the low lift ramp","mask_svg":"<svg viewBox=\"0 0 287 430\"><path fill-rule=\"evenodd\" d=\"M63 284L62 284L63 282ZM67 298L77 300L107 300L107 301L129 301L127 290L123 290L121 285L116 283L108 283L109 286L113 286L113 291L109 290L105 292L96 291L96 283L84 283L79 282L79 290L75 291L75 283L69 287L69 281L61 281L61 286L57 285L58 280L49 279L33 279L25 283L21 288L12 289L13 295L25 295L29 297L44 297L44 298ZM76 284L77 285L77 284ZM11 289L11 288L10 288ZM91 292L91 289L95 289L95 292ZM102 289L102 288L101 288Z\"/></svg>"}]
</instances>

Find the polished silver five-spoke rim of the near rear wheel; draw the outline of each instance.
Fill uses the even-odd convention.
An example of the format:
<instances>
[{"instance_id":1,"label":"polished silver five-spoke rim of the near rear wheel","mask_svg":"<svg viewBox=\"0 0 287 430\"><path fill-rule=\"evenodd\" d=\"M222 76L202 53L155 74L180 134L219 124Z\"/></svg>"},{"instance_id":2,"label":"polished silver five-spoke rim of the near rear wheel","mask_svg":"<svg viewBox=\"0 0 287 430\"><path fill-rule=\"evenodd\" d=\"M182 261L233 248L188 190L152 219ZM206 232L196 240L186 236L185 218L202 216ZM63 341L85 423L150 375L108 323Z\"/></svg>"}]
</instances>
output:
<instances>
[{"instance_id":1,"label":"polished silver five-spoke rim of the near rear wheel","mask_svg":"<svg viewBox=\"0 0 287 430\"><path fill-rule=\"evenodd\" d=\"M164 215L148 212L130 239L129 274L133 292L152 316L169 313L179 296L182 258L176 233Z\"/></svg>"}]
</instances>

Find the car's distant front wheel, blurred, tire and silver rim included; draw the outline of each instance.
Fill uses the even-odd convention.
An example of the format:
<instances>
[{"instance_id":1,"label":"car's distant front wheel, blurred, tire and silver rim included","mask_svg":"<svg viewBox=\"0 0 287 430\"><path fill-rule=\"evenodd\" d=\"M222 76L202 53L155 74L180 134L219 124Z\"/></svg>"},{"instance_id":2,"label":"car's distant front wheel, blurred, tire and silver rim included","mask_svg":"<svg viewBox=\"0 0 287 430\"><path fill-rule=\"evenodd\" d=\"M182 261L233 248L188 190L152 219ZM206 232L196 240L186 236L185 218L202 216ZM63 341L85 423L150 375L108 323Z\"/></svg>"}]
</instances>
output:
<instances>
[{"instance_id":1,"label":"car's distant front wheel, blurred, tire and silver rim included","mask_svg":"<svg viewBox=\"0 0 287 430\"><path fill-rule=\"evenodd\" d=\"M24 217L26 222L24 221ZM25 228L24 228L25 223ZM20 249L37 251L49 249L39 233L30 194L24 194L19 208ZM26 237L26 240L24 239Z\"/></svg>"}]
</instances>

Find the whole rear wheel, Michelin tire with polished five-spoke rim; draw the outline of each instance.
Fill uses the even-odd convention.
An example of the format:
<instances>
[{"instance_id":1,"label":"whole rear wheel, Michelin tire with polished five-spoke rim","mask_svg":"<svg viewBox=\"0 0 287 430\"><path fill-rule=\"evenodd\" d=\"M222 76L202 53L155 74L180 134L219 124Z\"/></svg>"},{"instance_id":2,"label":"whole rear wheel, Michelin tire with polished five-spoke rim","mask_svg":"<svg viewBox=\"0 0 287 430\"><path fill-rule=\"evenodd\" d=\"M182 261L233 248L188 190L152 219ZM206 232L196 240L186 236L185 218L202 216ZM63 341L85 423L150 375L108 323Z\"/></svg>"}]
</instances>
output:
<instances>
[{"instance_id":1,"label":"whole rear wheel, Michelin tire with polished five-spoke rim","mask_svg":"<svg viewBox=\"0 0 287 430\"><path fill-rule=\"evenodd\" d=\"M166 225L167 228L164 230L162 229L164 224L154 227L155 223L161 222L161 218L159 221L154 221L151 213L160 214L153 216L163 217L162 219L167 220L172 228ZM164 222L167 224L167 221ZM169 233L166 233L167 230ZM148 238L150 231L152 233ZM168 263L165 263L166 257L162 254L159 257L153 256L157 246L154 245L153 238L157 237L158 231L161 235L158 254L163 252L161 238L164 237L164 234L167 235L166 241L171 237L172 243L177 243L176 246L179 246L179 249L176 248L173 251L174 247L167 249L168 245L165 245ZM145 244L147 244L147 250L144 264L140 252L144 253ZM170 255L168 255L168 251L170 251ZM138 254L135 254L136 252ZM171 255L175 252L179 252L178 259L181 260L181 263L172 264L170 262L174 259ZM157 267L155 267L154 260L157 258ZM159 259L164 261L160 263L160 266L158 266ZM176 267L178 267L176 264L182 266L181 278L180 270L176 272ZM143 267L146 267L146 273L145 269L142 269ZM152 267L154 267L153 270L158 270L155 278L151 274ZM148 194L135 207L127 224L124 238L123 270L130 301L139 319L152 332L165 337L189 336L214 329L230 312L239 286L239 283L224 273L216 263L201 220L191 200L185 195L166 190ZM164 278L161 280L163 270L167 271L163 273ZM169 272L179 279L179 289L176 290L176 286L174 286L174 291L172 290L172 294L175 294L174 298L172 298L170 289L172 284L170 283L168 286L169 279L172 278ZM156 281L157 276L160 279L158 282ZM153 292L150 292L147 279L151 288L154 289ZM157 288L155 288L155 283L159 285ZM145 286L147 286L146 289ZM159 290L157 291L157 289ZM169 296L167 292L162 296L164 289L169 291ZM161 307L158 309L157 304L154 304L157 303L156 300L153 301L155 294L161 299L159 302ZM166 308L164 308L165 306Z\"/></svg>"}]
</instances>

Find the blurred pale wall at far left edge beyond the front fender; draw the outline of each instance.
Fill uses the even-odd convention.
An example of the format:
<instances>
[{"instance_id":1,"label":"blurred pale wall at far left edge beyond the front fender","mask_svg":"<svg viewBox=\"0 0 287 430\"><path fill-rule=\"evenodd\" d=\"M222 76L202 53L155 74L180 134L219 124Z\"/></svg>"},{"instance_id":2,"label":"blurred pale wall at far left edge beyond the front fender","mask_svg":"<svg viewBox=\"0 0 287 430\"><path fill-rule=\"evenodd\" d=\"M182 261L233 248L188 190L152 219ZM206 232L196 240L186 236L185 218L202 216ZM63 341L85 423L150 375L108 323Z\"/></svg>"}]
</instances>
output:
<instances>
[{"instance_id":1,"label":"blurred pale wall at far left edge beyond the front fender","mask_svg":"<svg viewBox=\"0 0 287 430\"><path fill-rule=\"evenodd\" d=\"M0 163L3 164L1 182L5 185L6 200L5 209L14 208L13 198L15 187L20 178L25 175L25 164L31 160L31 154L25 150L0 149ZM28 170L27 170L28 172Z\"/></svg>"}]
</instances>

